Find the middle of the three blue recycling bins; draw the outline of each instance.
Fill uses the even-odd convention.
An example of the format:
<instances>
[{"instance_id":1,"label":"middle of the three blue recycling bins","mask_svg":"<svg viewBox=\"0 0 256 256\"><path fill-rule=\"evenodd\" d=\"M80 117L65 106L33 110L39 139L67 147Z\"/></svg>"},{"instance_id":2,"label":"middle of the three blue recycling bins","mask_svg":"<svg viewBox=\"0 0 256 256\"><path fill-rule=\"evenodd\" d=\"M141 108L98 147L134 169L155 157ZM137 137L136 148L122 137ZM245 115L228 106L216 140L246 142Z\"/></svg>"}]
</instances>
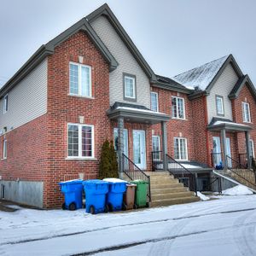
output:
<instances>
[{"instance_id":1,"label":"middle of the three blue recycling bins","mask_svg":"<svg viewBox=\"0 0 256 256\"><path fill-rule=\"evenodd\" d=\"M90 179L83 182L85 192L85 208L88 213L107 212L106 195L108 182L100 179Z\"/></svg>"}]
</instances>

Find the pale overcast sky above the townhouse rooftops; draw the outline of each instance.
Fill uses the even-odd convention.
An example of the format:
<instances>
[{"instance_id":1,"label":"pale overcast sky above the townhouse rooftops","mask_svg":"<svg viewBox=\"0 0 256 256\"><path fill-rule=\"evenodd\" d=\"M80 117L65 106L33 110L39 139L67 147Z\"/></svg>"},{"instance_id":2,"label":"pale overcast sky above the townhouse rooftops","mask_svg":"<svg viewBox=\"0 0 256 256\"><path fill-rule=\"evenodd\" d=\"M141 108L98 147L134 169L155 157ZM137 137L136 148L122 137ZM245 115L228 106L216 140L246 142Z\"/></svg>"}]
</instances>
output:
<instances>
[{"instance_id":1,"label":"pale overcast sky above the townhouse rooftops","mask_svg":"<svg viewBox=\"0 0 256 256\"><path fill-rule=\"evenodd\" d=\"M232 53L256 85L255 0L2 0L0 87L42 44L103 3L155 73L172 77Z\"/></svg>"}]
</instances>

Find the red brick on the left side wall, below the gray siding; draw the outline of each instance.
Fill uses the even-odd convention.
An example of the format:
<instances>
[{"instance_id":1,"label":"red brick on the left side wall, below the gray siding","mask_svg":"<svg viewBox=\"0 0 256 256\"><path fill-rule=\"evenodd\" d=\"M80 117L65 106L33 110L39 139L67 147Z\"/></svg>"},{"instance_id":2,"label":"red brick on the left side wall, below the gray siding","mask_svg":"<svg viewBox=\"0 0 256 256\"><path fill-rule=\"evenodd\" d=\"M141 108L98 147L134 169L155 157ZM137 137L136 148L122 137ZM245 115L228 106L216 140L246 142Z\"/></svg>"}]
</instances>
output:
<instances>
[{"instance_id":1,"label":"red brick on the left side wall, below the gray siding","mask_svg":"<svg viewBox=\"0 0 256 256\"><path fill-rule=\"evenodd\" d=\"M42 181L47 166L47 115L0 137L0 175L4 180ZM3 139L7 159L3 160Z\"/></svg>"}]
</instances>

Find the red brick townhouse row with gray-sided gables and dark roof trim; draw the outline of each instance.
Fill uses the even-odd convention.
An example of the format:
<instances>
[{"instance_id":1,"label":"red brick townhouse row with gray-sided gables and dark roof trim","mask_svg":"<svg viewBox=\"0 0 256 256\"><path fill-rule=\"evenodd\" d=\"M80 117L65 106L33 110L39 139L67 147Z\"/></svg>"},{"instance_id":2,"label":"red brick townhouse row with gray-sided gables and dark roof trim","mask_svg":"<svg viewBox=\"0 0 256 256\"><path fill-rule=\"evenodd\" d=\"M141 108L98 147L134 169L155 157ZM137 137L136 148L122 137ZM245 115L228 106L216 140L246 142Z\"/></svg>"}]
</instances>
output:
<instances>
[{"instance_id":1,"label":"red brick townhouse row with gray-sided gables and dark roof trim","mask_svg":"<svg viewBox=\"0 0 256 256\"><path fill-rule=\"evenodd\" d=\"M104 4L42 45L1 88L0 195L60 207L58 183L97 177L106 139L120 177L127 161L133 172L151 172L172 169L168 160L208 177L254 156L255 99L232 55L173 79L156 75Z\"/></svg>"}]
</instances>

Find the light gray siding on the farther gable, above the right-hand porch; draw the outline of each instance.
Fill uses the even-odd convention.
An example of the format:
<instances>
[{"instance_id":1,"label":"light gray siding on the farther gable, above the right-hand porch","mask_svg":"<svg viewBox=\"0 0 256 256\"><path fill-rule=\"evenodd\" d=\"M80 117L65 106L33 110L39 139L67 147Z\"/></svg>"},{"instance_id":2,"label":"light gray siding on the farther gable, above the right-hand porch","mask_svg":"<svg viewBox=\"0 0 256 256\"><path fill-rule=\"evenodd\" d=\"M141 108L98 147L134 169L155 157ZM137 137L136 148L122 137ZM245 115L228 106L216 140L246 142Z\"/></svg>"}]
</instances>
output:
<instances>
[{"instance_id":1,"label":"light gray siding on the farther gable, above the right-hand porch","mask_svg":"<svg viewBox=\"0 0 256 256\"><path fill-rule=\"evenodd\" d=\"M224 116L220 118L233 119L232 117L232 106L229 99L230 91L238 80L238 76L234 68L229 64L225 67L224 72L219 76L218 80L212 86L210 95L207 96L207 111L208 111L208 122L211 122L212 117L220 117L217 114L216 109L216 96L223 96L224 98Z\"/></svg>"}]
</instances>

